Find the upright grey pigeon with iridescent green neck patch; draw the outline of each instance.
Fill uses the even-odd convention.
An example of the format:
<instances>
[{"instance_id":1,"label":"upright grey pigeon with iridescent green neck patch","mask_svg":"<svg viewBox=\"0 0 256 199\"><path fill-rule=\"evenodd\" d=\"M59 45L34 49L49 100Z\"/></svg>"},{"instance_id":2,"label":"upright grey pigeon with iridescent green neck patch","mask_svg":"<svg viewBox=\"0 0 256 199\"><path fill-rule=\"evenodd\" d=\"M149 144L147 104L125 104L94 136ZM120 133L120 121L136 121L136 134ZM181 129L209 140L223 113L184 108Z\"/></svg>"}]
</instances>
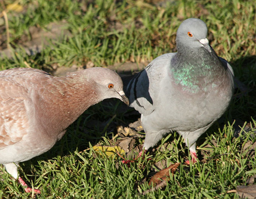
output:
<instances>
[{"instance_id":1,"label":"upright grey pigeon with iridescent green neck patch","mask_svg":"<svg viewBox=\"0 0 256 199\"><path fill-rule=\"evenodd\" d=\"M130 107L141 114L145 151L176 131L196 162L196 140L227 110L233 70L206 36L202 20L186 19L177 30L177 53L161 55L143 71L123 78Z\"/></svg>"}]
</instances>

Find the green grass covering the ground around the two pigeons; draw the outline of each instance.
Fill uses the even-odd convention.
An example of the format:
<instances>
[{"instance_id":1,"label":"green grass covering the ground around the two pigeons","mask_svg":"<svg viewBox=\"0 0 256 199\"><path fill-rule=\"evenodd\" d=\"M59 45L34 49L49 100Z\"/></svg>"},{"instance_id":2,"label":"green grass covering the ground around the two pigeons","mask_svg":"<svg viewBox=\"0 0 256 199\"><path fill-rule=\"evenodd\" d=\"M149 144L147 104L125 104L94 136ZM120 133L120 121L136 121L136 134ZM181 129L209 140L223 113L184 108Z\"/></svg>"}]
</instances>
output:
<instances>
[{"instance_id":1,"label":"green grass covering the ground around the two pigeons","mask_svg":"<svg viewBox=\"0 0 256 199\"><path fill-rule=\"evenodd\" d=\"M13 1L2 3L7 6ZM38 198L238 198L227 191L256 174L255 151L249 155L247 144L256 141L253 131L234 136L238 121L255 125L256 118L256 5L253 0L239 1L134 1L134 0L20 0L21 13L8 11L11 58L0 58L0 69L31 67L53 71L73 64L107 67L128 61L141 63L174 52L175 34L181 21L196 17L208 26L209 40L216 53L233 66L235 76L245 84L242 96L234 97L224 117L197 142L204 161L181 164L166 188L146 196L147 182L158 170L156 162L167 165L184 162L188 149L174 133L131 167L120 157L96 156L92 146L109 145L118 125L127 126L138 116L122 111L122 103L104 101L89 108L66 135L45 154L20 163L22 177L41 190ZM4 8L3 6L1 7ZM2 10L0 10L2 11ZM49 40L36 55L27 55L19 45L33 38L29 28L46 29L51 22L65 22L70 35ZM6 48L5 25L0 26L0 49ZM61 38L61 39L59 39ZM236 89L235 94L240 94ZM135 119L134 119L135 118ZM233 124L233 120L236 122ZM96 125L91 125L96 124ZM225 125L224 125L225 124ZM254 128L255 131L255 128ZM136 140L136 145L143 138ZM208 145L207 145L208 144ZM1 198L27 198L21 186L2 169Z\"/></svg>"}]
</instances>

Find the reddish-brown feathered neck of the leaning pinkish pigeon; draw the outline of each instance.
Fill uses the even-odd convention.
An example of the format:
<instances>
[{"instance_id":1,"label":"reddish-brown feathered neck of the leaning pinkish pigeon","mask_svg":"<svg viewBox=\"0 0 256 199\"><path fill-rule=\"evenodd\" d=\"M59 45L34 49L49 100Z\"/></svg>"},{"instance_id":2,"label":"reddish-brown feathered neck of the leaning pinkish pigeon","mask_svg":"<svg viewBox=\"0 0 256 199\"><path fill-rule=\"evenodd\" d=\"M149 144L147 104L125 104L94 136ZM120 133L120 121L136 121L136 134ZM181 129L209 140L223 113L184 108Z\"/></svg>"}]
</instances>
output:
<instances>
[{"instance_id":1,"label":"reddish-brown feathered neck of the leaning pinkish pigeon","mask_svg":"<svg viewBox=\"0 0 256 199\"><path fill-rule=\"evenodd\" d=\"M42 114L41 125L49 132L55 132L54 128L64 130L87 108L101 101L93 81L83 83L79 79L75 82L69 77L55 77L44 87L38 93L42 101L37 108L42 110L37 112Z\"/></svg>"}]
</instances>

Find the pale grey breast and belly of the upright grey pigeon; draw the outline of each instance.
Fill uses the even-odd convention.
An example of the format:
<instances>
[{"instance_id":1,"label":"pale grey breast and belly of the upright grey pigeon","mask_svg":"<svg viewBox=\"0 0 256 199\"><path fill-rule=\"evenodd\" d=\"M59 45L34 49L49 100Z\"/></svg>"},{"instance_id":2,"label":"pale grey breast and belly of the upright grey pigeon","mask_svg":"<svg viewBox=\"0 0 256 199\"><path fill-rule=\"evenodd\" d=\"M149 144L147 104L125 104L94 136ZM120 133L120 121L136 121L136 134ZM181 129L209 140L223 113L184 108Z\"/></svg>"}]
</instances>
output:
<instances>
[{"instance_id":1,"label":"pale grey breast and belly of the upright grey pigeon","mask_svg":"<svg viewBox=\"0 0 256 199\"><path fill-rule=\"evenodd\" d=\"M165 79L157 108L143 117L146 128L193 131L214 122L227 109L233 94L233 79L229 71L221 77L198 86L197 92L183 89L175 80ZM200 79L200 81L204 81ZM150 126L150 127L149 127Z\"/></svg>"}]
</instances>

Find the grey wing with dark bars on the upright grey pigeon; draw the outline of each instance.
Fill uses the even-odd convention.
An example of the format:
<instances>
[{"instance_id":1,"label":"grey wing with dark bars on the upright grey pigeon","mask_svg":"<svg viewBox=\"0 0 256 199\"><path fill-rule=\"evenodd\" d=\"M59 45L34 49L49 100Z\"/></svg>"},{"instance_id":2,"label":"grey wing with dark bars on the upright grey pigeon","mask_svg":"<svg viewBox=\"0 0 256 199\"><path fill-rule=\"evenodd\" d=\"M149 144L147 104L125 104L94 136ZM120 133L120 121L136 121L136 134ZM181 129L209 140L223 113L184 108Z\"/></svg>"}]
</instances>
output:
<instances>
[{"instance_id":1,"label":"grey wing with dark bars on the upright grey pigeon","mask_svg":"<svg viewBox=\"0 0 256 199\"><path fill-rule=\"evenodd\" d=\"M166 68L175 53L161 55L151 61L147 67L134 75L126 86L130 106L144 116L154 111L159 98L161 80L167 75Z\"/></svg>"}]
</instances>

